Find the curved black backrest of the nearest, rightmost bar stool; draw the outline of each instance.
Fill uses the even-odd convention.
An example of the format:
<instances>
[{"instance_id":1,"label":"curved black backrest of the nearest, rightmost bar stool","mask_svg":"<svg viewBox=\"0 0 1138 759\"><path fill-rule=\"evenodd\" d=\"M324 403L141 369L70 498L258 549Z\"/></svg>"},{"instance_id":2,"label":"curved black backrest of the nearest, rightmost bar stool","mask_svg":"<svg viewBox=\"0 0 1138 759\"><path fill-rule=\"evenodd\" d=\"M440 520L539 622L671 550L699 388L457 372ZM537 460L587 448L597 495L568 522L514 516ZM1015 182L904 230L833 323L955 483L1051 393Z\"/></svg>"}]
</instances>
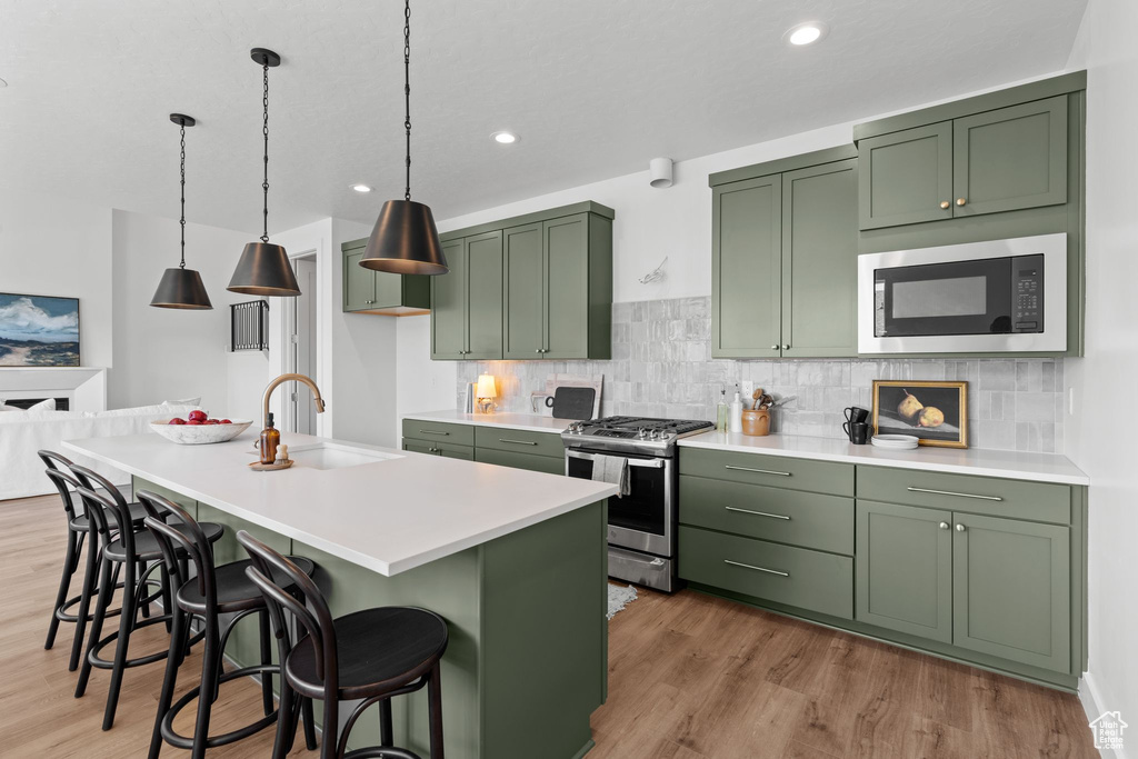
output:
<instances>
[{"instance_id":1,"label":"curved black backrest of the nearest, rightmost bar stool","mask_svg":"<svg viewBox=\"0 0 1138 759\"><path fill-rule=\"evenodd\" d=\"M237 533L237 541L245 546L253 560L253 566L247 567L245 574L265 597L277 637L281 637L287 629L284 626L287 610L302 628L297 632L307 633L312 640L316 677L324 682L325 699L337 698L339 665L336 629L332 627L332 613L328 609L324 594L299 567L245 530ZM280 584L277 578L284 578L286 581ZM289 587L291 593L286 591L286 587Z\"/></svg>"}]
</instances>

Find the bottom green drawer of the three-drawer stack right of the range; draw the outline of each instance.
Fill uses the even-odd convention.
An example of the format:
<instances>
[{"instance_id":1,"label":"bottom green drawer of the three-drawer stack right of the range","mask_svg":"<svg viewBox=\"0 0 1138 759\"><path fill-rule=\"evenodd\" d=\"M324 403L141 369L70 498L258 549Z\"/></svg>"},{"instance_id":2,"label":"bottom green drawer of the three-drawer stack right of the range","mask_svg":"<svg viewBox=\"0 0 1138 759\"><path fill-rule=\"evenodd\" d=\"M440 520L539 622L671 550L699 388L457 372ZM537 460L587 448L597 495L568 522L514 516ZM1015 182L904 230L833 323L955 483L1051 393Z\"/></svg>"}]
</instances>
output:
<instances>
[{"instance_id":1,"label":"bottom green drawer of the three-drawer stack right of the range","mask_svg":"<svg viewBox=\"0 0 1138 759\"><path fill-rule=\"evenodd\" d=\"M679 576L733 593L853 618L853 560L849 556L681 526Z\"/></svg>"}]
</instances>

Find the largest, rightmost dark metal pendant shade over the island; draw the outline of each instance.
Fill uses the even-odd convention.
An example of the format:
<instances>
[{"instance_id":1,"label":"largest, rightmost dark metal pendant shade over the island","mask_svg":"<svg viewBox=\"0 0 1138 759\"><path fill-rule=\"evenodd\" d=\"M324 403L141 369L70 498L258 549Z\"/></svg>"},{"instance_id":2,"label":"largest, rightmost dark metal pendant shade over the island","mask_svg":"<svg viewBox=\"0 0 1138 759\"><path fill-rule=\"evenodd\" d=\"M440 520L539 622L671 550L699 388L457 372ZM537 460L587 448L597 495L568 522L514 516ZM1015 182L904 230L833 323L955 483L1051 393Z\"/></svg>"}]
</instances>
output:
<instances>
[{"instance_id":1,"label":"largest, rightmost dark metal pendant shade over the island","mask_svg":"<svg viewBox=\"0 0 1138 759\"><path fill-rule=\"evenodd\" d=\"M393 274L445 274L446 256L430 207L414 200L385 203L360 265Z\"/></svg>"}]
</instances>

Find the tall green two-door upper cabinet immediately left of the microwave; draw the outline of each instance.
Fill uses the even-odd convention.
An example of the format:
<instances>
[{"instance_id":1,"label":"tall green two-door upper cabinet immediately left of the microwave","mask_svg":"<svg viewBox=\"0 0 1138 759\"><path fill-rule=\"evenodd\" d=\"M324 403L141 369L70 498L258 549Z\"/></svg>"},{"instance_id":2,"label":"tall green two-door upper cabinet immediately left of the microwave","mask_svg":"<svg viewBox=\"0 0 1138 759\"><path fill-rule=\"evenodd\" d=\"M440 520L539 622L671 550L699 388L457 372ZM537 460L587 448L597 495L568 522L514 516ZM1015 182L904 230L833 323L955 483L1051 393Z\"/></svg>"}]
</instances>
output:
<instances>
[{"instance_id":1,"label":"tall green two-door upper cabinet immediately left of the microwave","mask_svg":"<svg viewBox=\"0 0 1138 759\"><path fill-rule=\"evenodd\" d=\"M855 155L834 148L710 178L714 357L856 352Z\"/></svg>"}]
</instances>

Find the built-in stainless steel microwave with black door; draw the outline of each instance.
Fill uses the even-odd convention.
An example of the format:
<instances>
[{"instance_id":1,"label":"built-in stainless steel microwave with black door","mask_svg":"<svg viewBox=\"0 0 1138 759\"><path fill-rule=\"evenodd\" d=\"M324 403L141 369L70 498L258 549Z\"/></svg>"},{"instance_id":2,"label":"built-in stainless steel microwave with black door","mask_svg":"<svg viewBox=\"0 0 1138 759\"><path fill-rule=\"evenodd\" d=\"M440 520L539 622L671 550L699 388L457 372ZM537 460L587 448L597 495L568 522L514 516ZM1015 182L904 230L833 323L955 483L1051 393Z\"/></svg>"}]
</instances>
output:
<instances>
[{"instance_id":1,"label":"built-in stainless steel microwave with black door","mask_svg":"<svg viewBox=\"0 0 1138 759\"><path fill-rule=\"evenodd\" d=\"M858 353L1066 350L1066 234L858 256Z\"/></svg>"}]
</instances>

